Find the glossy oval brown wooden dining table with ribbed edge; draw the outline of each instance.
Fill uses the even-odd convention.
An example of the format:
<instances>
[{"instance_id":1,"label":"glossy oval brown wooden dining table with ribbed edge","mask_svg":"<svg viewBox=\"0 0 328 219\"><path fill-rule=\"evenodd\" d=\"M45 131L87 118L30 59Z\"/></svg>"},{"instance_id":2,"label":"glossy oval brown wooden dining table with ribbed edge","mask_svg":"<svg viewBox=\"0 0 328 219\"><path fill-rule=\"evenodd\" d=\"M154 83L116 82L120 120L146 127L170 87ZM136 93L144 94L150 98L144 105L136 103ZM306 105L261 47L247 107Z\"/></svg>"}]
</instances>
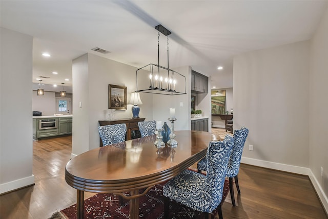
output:
<instances>
[{"instance_id":1,"label":"glossy oval brown wooden dining table with ribbed edge","mask_svg":"<svg viewBox=\"0 0 328 219\"><path fill-rule=\"evenodd\" d=\"M66 165L65 180L77 190L77 218L84 218L84 192L121 195L130 200L130 218L139 218L139 197L199 161L206 156L209 143L220 140L209 132L174 133L178 142L175 148L167 145L156 148L156 135L151 135L99 147L72 158Z\"/></svg>"}]
</instances>

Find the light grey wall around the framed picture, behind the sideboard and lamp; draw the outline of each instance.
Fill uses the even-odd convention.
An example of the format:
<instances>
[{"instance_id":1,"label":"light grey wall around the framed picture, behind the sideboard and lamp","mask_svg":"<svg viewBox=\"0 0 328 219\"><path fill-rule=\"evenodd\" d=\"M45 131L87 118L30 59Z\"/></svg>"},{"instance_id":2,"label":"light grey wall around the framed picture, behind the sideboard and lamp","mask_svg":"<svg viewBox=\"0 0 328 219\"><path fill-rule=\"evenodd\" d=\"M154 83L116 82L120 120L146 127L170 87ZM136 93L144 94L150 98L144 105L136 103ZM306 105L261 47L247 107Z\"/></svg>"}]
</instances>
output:
<instances>
[{"instance_id":1,"label":"light grey wall around the framed picture, behind the sideboard and lamp","mask_svg":"<svg viewBox=\"0 0 328 219\"><path fill-rule=\"evenodd\" d=\"M127 102L136 90L135 67L94 54L85 54L73 60L73 155L99 147L99 120L105 120L108 109L108 85L127 87ZM139 117L153 119L152 95L140 93ZM79 108L82 102L82 108ZM127 110L116 110L115 118L131 118L132 105Z\"/></svg>"}]
</instances>

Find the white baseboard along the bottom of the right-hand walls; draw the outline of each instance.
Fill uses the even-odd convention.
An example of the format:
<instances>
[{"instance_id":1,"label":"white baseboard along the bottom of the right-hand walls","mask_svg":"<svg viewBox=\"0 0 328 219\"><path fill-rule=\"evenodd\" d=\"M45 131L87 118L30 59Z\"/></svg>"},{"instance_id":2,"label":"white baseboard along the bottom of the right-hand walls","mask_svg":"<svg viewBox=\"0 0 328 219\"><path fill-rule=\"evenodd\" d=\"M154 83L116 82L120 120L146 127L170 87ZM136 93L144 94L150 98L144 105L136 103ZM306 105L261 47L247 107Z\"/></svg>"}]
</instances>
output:
<instances>
[{"instance_id":1,"label":"white baseboard along the bottom of the right-hand walls","mask_svg":"<svg viewBox=\"0 0 328 219\"><path fill-rule=\"evenodd\" d=\"M325 195L325 193L323 192L322 187L320 186L317 178L314 176L314 174L310 168L298 167L298 166L286 165L286 164L279 164L279 163L274 163L274 162L269 162L269 161L261 161L261 160L256 160L254 158L249 158L249 157L241 157L241 163L250 164L250 165L259 166L259 167L270 168L270 169L274 169L274 170L281 170L281 171L285 171L285 172L292 172L292 173L297 173L297 174L302 174L302 175L308 175L315 191L317 192L317 194L319 196L319 199L323 205L325 212L328 213L328 198Z\"/></svg>"}]
</instances>

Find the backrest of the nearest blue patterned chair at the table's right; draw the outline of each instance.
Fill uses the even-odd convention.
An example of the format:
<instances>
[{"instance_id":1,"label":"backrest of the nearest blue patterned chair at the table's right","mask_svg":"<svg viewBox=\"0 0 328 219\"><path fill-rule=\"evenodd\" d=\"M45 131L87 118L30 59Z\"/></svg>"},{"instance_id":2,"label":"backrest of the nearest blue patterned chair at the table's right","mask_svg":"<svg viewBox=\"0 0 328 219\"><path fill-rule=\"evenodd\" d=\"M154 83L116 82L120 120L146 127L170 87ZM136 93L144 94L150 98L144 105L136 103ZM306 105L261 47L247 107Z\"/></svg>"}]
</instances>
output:
<instances>
[{"instance_id":1,"label":"backrest of the nearest blue patterned chair at the table's right","mask_svg":"<svg viewBox=\"0 0 328 219\"><path fill-rule=\"evenodd\" d=\"M210 187L210 197L212 201L212 212L222 200L224 180L227 173L227 166L231 149L234 145L234 138L226 136L222 142L210 142L207 151L207 182ZM213 208L213 209L212 209Z\"/></svg>"}]
</instances>

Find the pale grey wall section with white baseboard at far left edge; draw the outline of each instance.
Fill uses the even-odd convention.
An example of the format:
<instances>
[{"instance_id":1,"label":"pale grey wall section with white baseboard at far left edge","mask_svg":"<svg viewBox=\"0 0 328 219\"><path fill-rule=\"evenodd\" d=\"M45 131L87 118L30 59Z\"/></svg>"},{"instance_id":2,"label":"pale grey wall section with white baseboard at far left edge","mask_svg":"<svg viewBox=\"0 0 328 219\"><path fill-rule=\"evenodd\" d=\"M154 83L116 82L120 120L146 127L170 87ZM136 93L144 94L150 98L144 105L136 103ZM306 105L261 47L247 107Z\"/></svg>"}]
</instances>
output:
<instances>
[{"instance_id":1,"label":"pale grey wall section with white baseboard at far left edge","mask_svg":"<svg viewBox=\"0 0 328 219\"><path fill-rule=\"evenodd\" d=\"M4 193L34 184L32 37L1 28L0 38L0 193Z\"/></svg>"}]
</instances>

